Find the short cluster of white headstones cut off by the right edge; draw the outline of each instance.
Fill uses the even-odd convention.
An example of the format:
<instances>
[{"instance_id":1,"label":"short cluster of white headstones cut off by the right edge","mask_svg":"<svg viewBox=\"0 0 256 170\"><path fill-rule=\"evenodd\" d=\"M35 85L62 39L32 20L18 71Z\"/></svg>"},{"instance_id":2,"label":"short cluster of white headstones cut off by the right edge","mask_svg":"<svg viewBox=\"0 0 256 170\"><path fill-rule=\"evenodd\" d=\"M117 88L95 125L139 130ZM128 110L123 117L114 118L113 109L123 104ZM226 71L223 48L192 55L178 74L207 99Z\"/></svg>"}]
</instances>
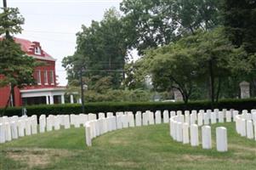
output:
<instances>
[{"instance_id":1,"label":"short cluster of white headstones cut off by the right edge","mask_svg":"<svg viewBox=\"0 0 256 170\"><path fill-rule=\"evenodd\" d=\"M256 140L256 111L253 110L248 113L246 110L242 111L241 115L236 116L236 133L247 139ZM254 133L253 133L254 131Z\"/></svg>"}]
</instances>

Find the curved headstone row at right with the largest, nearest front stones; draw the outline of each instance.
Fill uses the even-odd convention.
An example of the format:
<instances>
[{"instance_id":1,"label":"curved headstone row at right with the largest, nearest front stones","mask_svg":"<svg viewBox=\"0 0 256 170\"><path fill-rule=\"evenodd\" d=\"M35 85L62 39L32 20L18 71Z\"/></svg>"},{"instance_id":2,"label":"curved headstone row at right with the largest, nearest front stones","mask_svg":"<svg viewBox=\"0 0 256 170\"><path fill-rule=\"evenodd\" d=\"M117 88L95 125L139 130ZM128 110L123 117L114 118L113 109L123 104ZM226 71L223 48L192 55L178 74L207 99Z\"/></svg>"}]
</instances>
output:
<instances>
[{"instance_id":1,"label":"curved headstone row at right with the largest, nearest front stones","mask_svg":"<svg viewBox=\"0 0 256 170\"><path fill-rule=\"evenodd\" d=\"M209 124L216 122L231 122L235 121L238 111L223 110L214 111L203 110L185 111L185 115L179 114L170 118L170 136L183 144L191 144L191 146L199 145L199 127L202 127L202 149L212 149L212 132ZM216 128L216 148L220 152L228 150L227 130L225 127Z\"/></svg>"}]
</instances>

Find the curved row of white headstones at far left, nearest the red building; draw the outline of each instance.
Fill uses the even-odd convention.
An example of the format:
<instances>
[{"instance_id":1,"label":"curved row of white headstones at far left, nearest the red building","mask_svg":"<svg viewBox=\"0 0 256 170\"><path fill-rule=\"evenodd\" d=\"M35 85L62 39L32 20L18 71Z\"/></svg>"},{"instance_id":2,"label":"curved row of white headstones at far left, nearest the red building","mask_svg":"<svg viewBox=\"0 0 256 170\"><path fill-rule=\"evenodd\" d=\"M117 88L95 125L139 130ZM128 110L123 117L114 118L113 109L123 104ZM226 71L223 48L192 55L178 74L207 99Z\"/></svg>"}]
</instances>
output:
<instances>
[{"instance_id":1,"label":"curved row of white headstones at far left, nearest the red building","mask_svg":"<svg viewBox=\"0 0 256 170\"><path fill-rule=\"evenodd\" d=\"M30 136L31 134L45 133L53 130L60 130L85 126L85 123L96 119L95 114L79 114L79 115L41 115L39 116L39 124L37 124L37 116L3 116L0 117L0 144L11 141L13 139Z\"/></svg>"}]
</instances>

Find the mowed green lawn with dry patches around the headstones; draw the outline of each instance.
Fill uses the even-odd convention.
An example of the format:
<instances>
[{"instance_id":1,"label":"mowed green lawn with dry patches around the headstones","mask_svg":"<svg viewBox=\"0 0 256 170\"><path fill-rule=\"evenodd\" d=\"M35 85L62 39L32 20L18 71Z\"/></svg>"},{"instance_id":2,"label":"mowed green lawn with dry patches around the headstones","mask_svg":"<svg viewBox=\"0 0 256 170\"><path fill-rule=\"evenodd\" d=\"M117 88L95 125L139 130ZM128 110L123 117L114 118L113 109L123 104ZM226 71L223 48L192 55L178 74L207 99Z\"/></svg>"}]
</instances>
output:
<instances>
[{"instance_id":1,"label":"mowed green lawn with dry patches around the headstones","mask_svg":"<svg viewBox=\"0 0 256 170\"><path fill-rule=\"evenodd\" d=\"M218 126L228 129L225 153L216 151ZM212 150L175 142L168 124L105 133L87 147L83 127L61 129L0 144L0 169L256 169L256 141L236 134L234 123L212 133Z\"/></svg>"}]
</instances>

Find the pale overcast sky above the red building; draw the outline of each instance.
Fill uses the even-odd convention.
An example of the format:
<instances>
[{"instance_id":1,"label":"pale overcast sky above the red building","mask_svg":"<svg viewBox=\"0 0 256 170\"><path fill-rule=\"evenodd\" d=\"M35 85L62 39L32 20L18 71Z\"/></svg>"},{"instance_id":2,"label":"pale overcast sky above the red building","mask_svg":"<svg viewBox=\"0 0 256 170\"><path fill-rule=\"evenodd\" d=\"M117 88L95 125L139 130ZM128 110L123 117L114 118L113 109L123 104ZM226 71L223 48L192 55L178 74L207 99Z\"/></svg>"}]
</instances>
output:
<instances>
[{"instance_id":1,"label":"pale overcast sky above the red building","mask_svg":"<svg viewBox=\"0 0 256 170\"><path fill-rule=\"evenodd\" d=\"M3 7L0 0L0 7ZM76 49L76 33L82 24L90 26L92 20L100 21L105 10L119 9L122 0L7 0L8 7L20 9L25 18L22 34L16 37L40 42L44 51L56 60L58 82L67 83L61 60Z\"/></svg>"}]
</instances>

